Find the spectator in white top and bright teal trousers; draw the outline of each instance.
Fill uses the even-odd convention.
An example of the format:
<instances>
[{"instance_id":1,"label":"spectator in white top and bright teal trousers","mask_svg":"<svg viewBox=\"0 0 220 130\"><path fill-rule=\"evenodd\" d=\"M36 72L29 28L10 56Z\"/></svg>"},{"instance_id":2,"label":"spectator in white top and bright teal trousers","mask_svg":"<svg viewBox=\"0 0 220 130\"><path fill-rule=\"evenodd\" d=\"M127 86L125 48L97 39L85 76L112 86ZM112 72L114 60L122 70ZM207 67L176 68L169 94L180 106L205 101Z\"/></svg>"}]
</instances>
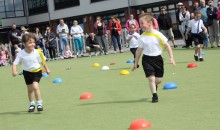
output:
<instances>
[{"instance_id":1,"label":"spectator in white top and bright teal trousers","mask_svg":"<svg viewBox=\"0 0 220 130\"><path fill-rule=\"evenodd\" d=\"M76 56L78 57L79 54L83 56L83 29L78 25L77 20L73 21L73 26L71 27L71 35L75 43Z\"/></svg>"}]
</instances>

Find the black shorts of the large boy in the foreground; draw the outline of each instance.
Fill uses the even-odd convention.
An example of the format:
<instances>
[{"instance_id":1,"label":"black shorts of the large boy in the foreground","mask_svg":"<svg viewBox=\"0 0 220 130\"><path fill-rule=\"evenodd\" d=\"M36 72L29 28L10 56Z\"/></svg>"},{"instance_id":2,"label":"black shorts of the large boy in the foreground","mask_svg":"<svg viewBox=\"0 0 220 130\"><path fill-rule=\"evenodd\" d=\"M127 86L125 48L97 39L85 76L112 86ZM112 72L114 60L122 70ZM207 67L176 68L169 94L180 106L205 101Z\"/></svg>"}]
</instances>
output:
<instances>
[{"instance_id":1,"label":"black shorts of the large boy in the foreground","mask_svg":"<svg viewBox=\"0 0 220 130\"><path fill-rule=\"evenodd\" d=\"M142 66L145 72L146 77L155 76L163 77L164 68L163 68L163 58L159 56L146 56L142 57Z\"/></svg>"}]
</instances>

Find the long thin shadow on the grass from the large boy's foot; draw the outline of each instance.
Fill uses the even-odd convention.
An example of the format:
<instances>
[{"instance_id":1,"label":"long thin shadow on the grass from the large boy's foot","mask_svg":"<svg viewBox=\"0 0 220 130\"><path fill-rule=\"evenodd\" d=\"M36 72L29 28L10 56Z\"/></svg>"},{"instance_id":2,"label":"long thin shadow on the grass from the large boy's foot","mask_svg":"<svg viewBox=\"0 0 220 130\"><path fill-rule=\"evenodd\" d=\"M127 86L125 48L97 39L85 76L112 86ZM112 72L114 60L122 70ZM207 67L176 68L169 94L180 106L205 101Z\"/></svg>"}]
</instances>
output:
<instances>
[{"instance_id":1,"label":"long thin shadow on the grass from the large boy's foot","mask_svg":"<svg viewBox=\"0 0 220 130\"><path fill-rule=\"evenodd\" d=\"M143 98L143 99L139 99L139 100L123 100L123 101L109 101L109 102L85 103L85 104L80 104L79 106L102 105L102 104L115 104L115 103L138 103L138 102L151 102L151 101L148 101L147 98Z\"/></svg>"}]
</instances>

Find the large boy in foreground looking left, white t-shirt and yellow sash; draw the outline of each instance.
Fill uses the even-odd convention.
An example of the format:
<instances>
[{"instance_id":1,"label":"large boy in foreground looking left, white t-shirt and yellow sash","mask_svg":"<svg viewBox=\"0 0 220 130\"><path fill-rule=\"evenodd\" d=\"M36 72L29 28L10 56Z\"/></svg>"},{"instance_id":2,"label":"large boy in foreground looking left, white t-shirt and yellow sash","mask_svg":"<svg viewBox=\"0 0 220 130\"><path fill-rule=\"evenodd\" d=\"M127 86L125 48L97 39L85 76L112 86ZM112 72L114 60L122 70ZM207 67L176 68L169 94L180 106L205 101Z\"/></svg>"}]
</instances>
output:
<instances>
[{"instance_id":1,"label":"large boy in foreground looking left, white t-shirt and yellow sash","mask_svg":"<svg viewBox=\"0 0 220 130\"><path fill-rule=\"evenodd\" d=\"M141 53L143 53L142 66L153 95L152 103L156 103L158 102L157 85L161 83L164 74L163 58L161 57L164 46L167 48L171 64L175 66L176 63L172 49L167 42L168 39L162 33L153 29L152 14L141 14L139 22L144 32L138 40L138 49L132 71L137 68Z\"/></svg>"}]
</instances>

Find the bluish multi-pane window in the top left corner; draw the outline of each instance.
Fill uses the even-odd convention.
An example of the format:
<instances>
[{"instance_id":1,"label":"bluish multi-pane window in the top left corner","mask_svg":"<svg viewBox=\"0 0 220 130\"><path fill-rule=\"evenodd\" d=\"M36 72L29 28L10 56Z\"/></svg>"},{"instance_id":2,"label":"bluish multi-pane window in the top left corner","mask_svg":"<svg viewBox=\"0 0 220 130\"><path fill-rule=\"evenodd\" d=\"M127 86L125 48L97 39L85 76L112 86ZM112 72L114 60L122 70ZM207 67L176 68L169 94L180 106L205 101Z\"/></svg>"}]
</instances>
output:
<instances>
[{"instance_id":1,"label":"bluish multi-pane window in the top left corner","mask_svg":"<svg viewBox=\"0 0 220 130\"><path fill-rule=\"evenodd\" d=\"M24 16L23 0L0 0L0 18Z\"/></svg>"}]
</instances>

